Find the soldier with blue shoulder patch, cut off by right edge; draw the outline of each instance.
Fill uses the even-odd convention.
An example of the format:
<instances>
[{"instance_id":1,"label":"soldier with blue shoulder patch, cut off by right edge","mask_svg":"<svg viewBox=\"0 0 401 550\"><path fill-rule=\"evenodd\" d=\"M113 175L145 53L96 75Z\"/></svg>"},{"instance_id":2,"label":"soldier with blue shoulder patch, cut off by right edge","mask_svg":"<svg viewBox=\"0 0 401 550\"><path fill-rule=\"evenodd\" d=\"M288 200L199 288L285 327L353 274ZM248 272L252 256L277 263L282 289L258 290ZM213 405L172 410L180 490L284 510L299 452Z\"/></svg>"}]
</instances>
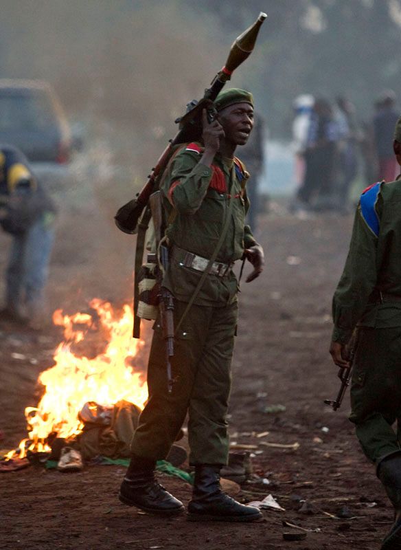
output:
<instances>
[{"instance_id":1,"label":"soldier with blue shoulder patch, cut off by right edge","mask_svg":"<svg viewBox=\"0 0 401 550\"><path fill-rule=\"evenodd\" d=\"M401 118L393 151L401 165ZM330 353L349 368L355 327L350 420L389 496L396 520L382 550L401 548L401 179L368 187L360 197L350 252L333 298ZM398 432L392 424L398 421Z\"/></svg>"}]
</instances>

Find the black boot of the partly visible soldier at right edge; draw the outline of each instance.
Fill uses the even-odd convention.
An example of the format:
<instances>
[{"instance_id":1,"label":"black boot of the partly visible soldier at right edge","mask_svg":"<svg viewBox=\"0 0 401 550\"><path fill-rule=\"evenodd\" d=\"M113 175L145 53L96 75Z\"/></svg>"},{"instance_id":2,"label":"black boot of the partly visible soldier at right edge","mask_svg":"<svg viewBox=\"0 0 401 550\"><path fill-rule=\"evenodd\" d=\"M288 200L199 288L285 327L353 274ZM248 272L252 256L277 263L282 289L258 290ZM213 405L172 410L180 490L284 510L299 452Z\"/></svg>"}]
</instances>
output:
<instances>
[{"instance_id":1,"label":"black boot of the partly visible soldier at right edge","mask_svg":"<svg viewBox=\"0 0 401 550\"><path fill-rule=\"evenodd\" d=\"M401 454L391 454L378 463L378 478L386 489L395 511L395 521L385 540L382 550L401 549Z\"/></svg>"}]
</instances>

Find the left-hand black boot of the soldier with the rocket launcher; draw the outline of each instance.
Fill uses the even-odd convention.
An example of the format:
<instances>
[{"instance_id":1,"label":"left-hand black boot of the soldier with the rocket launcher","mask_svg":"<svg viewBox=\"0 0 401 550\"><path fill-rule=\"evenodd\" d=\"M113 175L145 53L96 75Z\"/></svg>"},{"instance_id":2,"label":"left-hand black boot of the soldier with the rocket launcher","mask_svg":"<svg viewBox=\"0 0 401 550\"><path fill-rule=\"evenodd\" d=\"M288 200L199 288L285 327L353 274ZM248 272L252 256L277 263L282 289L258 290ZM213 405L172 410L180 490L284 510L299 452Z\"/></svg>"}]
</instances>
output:
<instances>
[{"instance_id":1,"label":"left-hand black boot of the soldier with the rocket launcher","mask_svg":"<svg viewBox=\"0 0 401 550\"><path fill-rule=\"evenodd\" d=\"M180 514L183 503L168 493L154 478L156 461L133 456L119 489L119 500L151 514L172 516Z\"/></svg>"}]
</instances>

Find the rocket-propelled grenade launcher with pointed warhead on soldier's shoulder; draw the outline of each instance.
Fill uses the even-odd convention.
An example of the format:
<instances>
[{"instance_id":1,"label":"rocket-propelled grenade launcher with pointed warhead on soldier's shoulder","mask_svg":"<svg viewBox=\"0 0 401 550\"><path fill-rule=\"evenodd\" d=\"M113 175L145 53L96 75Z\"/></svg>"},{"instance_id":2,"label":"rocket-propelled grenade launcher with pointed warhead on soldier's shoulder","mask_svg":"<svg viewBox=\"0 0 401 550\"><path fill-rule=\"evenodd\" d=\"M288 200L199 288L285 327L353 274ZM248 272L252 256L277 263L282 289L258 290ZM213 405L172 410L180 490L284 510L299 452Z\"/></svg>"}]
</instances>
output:
<instances>
[{"instance_id":1,"label":"rocket-propelled grenade launcher with pointed warhead on soldier's shoulder","mask_svg":"<svg viewBox=\"0 0 401 550\"><path fill-rule=\"evenodd\" d=\"M216 99L225 83L227 83L227 80L230 80L231 74L253 52L257 34L266 17L265 13L260 12L255 23L238 36L233 45L231 45L225 65L211 81L211 85L205 90L203 98L199 102L191 102L187 113L176 120L176 122L179 122L179 132L170 140L161 157L159 157L156 166L152 168L152 173L148 177L145 186L137 194L136 199L129 201L119 208L115 215L117 228L124 231L124 233L135 234L137 232L139 217L141 217L144 208L148 204L150 195L155 190L154 187L158 177L163 173L165 166L168 164L174 146L180 143L196 141L200 138L203 109L210 109L211 102Z\"/></svg>"}]
</instances>

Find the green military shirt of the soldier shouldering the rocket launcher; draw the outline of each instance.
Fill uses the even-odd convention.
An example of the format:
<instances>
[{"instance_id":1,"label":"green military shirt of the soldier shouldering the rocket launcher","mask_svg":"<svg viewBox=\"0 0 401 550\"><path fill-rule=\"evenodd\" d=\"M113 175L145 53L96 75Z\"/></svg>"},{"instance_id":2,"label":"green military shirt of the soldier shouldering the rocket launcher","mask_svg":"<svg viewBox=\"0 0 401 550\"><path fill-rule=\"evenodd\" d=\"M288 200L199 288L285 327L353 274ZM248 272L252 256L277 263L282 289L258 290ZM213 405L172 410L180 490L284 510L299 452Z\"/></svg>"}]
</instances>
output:
<instances>
[{"instance_id":1,"label":"green military shirt of the soldier shouldering the rocket launcher","mask_svg":"<svg viewBox=\"0 0 401 550\"><path fill-rule=\"evenodd\" d=\"M216 261L233 263L255 243L249 225L244 223L249 209L247 175L237 159L224 159L217 154L209 167L199 163L202 154L201 144L183 146L161 182L163 205L170 222L165 234L170 246L210 259L232 200L227 235ZM177 299L189 301L202 274L170 258L163 285ZM221 307L235 301L237 292L238 281L232 271L224 277L208 275L194 303Z\"/></svg>"}]
</instances>

